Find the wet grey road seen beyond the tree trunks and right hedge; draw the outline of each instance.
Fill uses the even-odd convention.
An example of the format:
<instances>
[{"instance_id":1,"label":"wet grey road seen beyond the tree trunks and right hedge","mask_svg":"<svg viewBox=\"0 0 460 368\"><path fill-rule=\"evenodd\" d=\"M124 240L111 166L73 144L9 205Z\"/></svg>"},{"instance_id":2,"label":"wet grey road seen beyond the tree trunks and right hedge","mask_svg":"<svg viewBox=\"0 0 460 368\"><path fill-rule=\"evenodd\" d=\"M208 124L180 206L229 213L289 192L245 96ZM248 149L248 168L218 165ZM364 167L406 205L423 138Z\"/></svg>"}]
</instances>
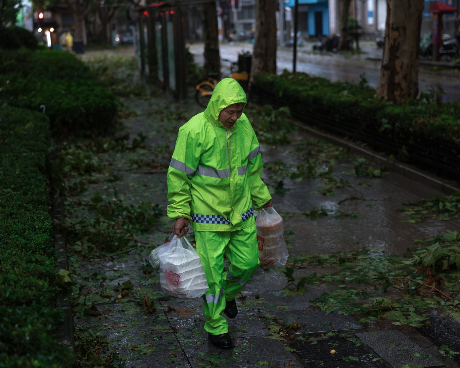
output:
<instances>
[{"instance_id":1,"label":"wet grey road seen beyond the tree trunks and right hedge","mask_svg":"<svg viewBox=\"0 0 460 368\"><path fill-rule=\"evenodd\" d=\"M364 77L368 85L377 87L380 75L380 61L367 60L367 57L379 57L381 51L375 50L373 42L363 42L361 55L344 57L340 54L317 54L311 52L311 45L299 47L297 71L310 75L327 78L330 81L359 82L360 75ZM188 45L190 52L194 54L198 65L203 65L203 44L196 43ZM220 55L223 59L237 60L239 52L249 51L252 53L251 44L220 45ZM228 63L223 63L223 72L229 74ZM292 50L279 48L276 55L276 66L278 73L283 69L292 71ZM448 70L444 72L432 72L422 68L419 74L419 91L423 92L426 86L433 86L437 89L439 85L446 92L444 100L460 101L460 71Z\"/></svg>"}]
</instances>

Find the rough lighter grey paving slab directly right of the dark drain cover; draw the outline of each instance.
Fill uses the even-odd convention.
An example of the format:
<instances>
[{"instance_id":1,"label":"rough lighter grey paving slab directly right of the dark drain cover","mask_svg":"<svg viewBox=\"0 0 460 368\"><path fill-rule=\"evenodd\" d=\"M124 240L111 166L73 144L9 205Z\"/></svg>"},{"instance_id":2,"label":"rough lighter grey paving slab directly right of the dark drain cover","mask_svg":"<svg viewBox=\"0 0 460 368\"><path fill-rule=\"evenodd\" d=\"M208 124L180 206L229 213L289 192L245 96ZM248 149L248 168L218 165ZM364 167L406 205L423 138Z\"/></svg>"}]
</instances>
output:
<instances>
[{"instance_id":1,"label":"rough lighter grey paving slab directly right of the dark drain cover","mask_svg":"<svg viewBox=\"0 0 460 368\"><path fill-rule=\"evenodd\" d=\"M363 332L356 334L356 336L394 368L401 368L404 364L417 364L424 367L437 367L441 364L420 345L414 343L398 330ZM414 353L426 354L428 358L411 359L411 355Z\"/></svg>"}]
</instances>

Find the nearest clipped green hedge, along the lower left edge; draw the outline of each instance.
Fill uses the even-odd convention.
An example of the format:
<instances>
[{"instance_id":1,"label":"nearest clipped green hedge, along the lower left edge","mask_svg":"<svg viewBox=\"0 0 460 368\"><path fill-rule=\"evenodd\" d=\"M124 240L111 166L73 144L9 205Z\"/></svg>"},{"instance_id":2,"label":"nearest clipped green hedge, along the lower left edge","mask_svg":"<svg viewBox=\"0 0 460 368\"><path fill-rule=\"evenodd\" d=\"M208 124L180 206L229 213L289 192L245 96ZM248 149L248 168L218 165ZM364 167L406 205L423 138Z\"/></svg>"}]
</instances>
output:
<instances>
[{"instance_id":1,"label":"nearest clipped green hedge, along the lower left edge","mask_svg":"<svg viewBox=\"0 0 460 368\"><path fill-rule=\"evenodd\" d=\"M59 346L46 115L0 108L0 367L68 367ZM70 362L70 363L69 363Z\"/></svg>"}]
</instances>

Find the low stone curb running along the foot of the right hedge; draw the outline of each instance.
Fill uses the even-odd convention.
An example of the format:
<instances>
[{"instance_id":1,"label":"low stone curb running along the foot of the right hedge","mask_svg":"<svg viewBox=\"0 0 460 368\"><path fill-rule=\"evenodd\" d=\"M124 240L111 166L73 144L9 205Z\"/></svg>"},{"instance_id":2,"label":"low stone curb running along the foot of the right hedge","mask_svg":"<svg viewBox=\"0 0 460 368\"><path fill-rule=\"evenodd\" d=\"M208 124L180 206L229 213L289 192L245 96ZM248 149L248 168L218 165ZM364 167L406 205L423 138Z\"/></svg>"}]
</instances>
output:
<instances>
[{"instance_id":1,"label":"low stone curb running along the foot of the right hedge","mask_svg":"<svg viewBox=\"0 0 460 368\"><path fill-rule=\"evenodd\" d=\"M388 162L388 159L381 156L377 155L371 151L365 150L362 147L357 146L356 144L352 144L350 142L347 142L344 139L340 139L337 137L334 137L330 134L320 132L319 130L316 130L314 128L308 127L302 123L299 123L297 121L292 121L293 125L296 125L297 127L301 127L305 129L307 132L311 133L311 135L314 135L317 138L324 139L328 142L334 143L340 147L345 147L350 149L351 151L358 152L360 155L363 155L369 160L372 160L380 165L385 165L386 167L390 168L394 172L401 174L405 176L406 178L410 178L413 180L416 180L420 183L426 184L427 186L439 190L441 192L444 192L446 194L452 195L456 191L460 191L460 188L454 187L451 184L448 184L442 180L439 180L439 178L436 178L434 176L431 176L426 173L421 173L420 171L417 171L413 169L412 167L408 167L406 165L396 163L396 162Z\"/></svg>"}]
</instances>

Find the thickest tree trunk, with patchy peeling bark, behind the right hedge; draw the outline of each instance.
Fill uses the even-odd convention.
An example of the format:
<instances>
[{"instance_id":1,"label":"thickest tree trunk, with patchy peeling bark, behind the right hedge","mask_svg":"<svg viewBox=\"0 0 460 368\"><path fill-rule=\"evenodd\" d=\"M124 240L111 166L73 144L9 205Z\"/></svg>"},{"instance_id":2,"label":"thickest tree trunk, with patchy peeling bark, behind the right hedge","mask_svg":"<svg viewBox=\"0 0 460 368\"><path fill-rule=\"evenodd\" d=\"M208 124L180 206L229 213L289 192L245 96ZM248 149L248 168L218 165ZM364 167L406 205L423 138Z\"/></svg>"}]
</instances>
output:
<instances>
[{"instance_id":1,"label":"thickest tree trunk, with patchy peeling bark, behind the right hedge","mask_svg":"<svg viewBox=\"0 0 460 368\"><path fill-rule=\"evenodd\" d=\"M377 94L394 104L417 98L423 0L387 0Z\"/></svg>"}]
</instances>

